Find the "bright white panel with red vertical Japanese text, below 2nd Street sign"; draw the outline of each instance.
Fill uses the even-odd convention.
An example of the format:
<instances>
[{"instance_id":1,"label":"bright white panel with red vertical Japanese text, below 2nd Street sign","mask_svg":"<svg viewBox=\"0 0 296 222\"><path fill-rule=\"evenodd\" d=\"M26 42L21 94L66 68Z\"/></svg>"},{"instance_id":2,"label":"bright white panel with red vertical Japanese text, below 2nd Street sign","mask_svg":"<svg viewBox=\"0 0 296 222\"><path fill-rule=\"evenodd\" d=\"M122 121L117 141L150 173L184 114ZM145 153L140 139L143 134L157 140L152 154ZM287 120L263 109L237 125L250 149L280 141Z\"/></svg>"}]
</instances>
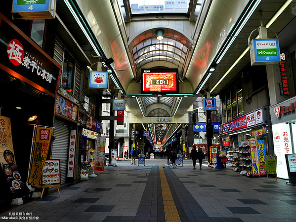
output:
<instances>
[{"instance_id":1,"label":"bright white panel with red vertical Japanese text, below 2nd Street sign","mask_svg":"<svg viewBox=\"0 0 296 222\"><path fill-rule=\"evenodd\" d=\"M288 179L285 154L292 153L290 125L278 123L272 125L274 154L277 156L277 174L279 178Z\"/></svg>"}]
</instances>

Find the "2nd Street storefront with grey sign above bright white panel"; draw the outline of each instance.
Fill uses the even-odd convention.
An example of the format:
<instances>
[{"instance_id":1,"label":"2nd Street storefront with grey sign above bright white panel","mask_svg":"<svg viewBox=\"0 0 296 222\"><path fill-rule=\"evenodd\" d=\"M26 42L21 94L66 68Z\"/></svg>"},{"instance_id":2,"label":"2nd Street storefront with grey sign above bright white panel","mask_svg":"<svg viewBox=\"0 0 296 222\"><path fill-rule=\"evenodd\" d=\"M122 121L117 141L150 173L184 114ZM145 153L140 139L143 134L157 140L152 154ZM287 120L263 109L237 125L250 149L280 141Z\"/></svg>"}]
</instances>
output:
<instances>
[{"instance_id":1,"label":"2nd Street storefront with grey sign above bright white panel","mask_svg":"<svg viewBox=\"0 0 296 222\"><path fill-rule=\"evenodd\" d=\"M277 156L277 175L288 179L285 154L296 148L296 97L270 107L274 154Z\"/></svg>"}]
</instances>

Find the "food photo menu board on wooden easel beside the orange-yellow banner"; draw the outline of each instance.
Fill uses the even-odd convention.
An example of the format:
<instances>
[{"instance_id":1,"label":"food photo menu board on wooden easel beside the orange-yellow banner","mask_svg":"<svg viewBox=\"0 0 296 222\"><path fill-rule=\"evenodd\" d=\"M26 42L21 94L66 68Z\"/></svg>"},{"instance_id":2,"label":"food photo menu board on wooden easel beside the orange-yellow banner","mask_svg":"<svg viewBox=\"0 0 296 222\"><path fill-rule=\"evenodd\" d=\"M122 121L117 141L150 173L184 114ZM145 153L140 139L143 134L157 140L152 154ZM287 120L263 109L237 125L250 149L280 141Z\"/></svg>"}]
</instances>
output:
<instances>
[{"instance_id":1,"label":"food photo menu board on wooden easel beside the orange-yellow banner","mask_svg":"<svg viewBox=\"0 0 296 222\"><path fill-rule=\"evenodd\" d=\"M42 169L42 185L54 186L61 184L61 169L59 159L47 159Z\"/></svg>"}]
</instances>

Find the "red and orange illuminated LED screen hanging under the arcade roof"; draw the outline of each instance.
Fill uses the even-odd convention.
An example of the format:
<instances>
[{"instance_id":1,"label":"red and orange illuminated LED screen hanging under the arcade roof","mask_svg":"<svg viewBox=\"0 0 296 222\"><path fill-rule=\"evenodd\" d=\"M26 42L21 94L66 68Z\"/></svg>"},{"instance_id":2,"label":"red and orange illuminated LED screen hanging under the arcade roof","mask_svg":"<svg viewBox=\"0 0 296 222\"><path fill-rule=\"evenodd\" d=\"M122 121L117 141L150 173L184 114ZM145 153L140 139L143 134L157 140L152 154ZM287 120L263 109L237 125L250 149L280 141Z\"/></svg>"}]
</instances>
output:
<instances>
[{"instance_id":1,"label":"red and orange illuminated LED screen hanging under the arcade roof","mask_svg":"<svg viewBox=\"0 0 296 222\"><path fill-rule=\"evenodd\" d=\"M142 70L142 93L178 93L178 70Z\"/></svg>"}]
</instances>

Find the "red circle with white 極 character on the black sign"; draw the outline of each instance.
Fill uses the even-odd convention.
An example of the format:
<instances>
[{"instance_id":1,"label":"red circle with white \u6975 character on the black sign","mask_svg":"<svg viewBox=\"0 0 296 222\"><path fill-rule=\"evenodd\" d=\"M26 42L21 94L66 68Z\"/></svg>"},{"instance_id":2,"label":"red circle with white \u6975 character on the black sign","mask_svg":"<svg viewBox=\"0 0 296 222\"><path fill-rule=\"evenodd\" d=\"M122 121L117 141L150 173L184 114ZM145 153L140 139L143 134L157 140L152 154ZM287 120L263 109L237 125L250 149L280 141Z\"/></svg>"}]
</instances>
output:
<instances>
[{"instance_id":1,"label":"red circle with white \u6975 character on the black sign","mask_svg":"<svg viewBox=\"0 0 296 222\"><path fill-rule=\"evenodd\" d=\"M9 41L7 46L7 55L8 55L9 61L13 65L15 66L21 65L25 55L24 47L22 43L17 39L12 39L11 41Z\"/></svg>"}]
</instances>

